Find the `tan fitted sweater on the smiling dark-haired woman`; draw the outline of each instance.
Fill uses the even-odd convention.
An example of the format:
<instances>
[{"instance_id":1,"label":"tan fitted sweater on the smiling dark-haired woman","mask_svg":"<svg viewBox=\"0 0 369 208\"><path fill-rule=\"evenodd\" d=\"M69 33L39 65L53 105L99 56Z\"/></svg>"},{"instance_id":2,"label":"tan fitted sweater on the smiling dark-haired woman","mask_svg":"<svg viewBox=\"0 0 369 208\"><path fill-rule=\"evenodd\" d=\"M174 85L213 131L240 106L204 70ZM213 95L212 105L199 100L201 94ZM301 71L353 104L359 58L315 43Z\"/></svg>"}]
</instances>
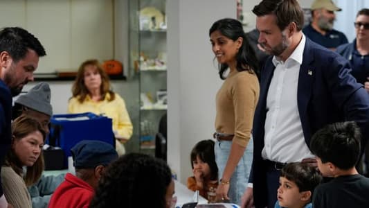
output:
<instances>
[{"instance_id":1,"label":"tan fitted sweater on the smiling dark-haired woman","mask_svg":"<svg viewBox=\"0 0 369 208\"><path fill-rule=\"evenodd\" d=\"M233 142L246 147L251 137L253 115L260 85L255 73L232 71L217 92L215 130L235 135Z\"/></svg>"}]
</instances>

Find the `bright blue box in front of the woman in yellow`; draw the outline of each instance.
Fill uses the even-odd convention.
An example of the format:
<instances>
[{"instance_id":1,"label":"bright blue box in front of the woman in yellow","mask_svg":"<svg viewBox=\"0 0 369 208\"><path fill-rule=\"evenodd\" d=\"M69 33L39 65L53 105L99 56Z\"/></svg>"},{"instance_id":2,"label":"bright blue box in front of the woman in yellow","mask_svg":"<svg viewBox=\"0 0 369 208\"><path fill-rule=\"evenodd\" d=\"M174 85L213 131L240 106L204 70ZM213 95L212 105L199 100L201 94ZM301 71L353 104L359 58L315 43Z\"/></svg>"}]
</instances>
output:
<instances>
[{"instance_id":1,"label":"bright blue box in front of the woman in yellow","mask_svg":"<svg viewBox=\"0 0 369 208\"><path fill-rule=\"evenodd\" d=\"M111 119L91 112L55 114L51 117L50 135L46 144L59 146L64 151L64 168L68 167L71 148L82 140L105 141L115 147Z\"/></svg>"}]
</instances>

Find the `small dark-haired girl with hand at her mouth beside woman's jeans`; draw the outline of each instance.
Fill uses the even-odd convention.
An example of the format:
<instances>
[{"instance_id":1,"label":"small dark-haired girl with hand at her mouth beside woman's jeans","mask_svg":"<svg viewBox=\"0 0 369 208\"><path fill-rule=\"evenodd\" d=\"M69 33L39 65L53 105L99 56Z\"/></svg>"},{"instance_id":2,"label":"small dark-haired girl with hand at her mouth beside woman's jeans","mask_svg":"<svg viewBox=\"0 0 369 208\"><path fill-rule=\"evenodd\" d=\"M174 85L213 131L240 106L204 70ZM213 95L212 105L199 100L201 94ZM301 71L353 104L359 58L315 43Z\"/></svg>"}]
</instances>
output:
<instances>
[{"instance_id":1,"label":"small dark-haired girl with hand at her mouth beside woman's jeans","mask_svg":"<svg viewBox=\"0 0 369 208\"><path fill-rule=\"evenodd\" d=\"M214 144L212 140L199 141L191 151L192 177L188 177L187 187L199 190L200 195L209 202L215 202L218 187L218 168L215 163Z\"/></svg>"}]
</instances>

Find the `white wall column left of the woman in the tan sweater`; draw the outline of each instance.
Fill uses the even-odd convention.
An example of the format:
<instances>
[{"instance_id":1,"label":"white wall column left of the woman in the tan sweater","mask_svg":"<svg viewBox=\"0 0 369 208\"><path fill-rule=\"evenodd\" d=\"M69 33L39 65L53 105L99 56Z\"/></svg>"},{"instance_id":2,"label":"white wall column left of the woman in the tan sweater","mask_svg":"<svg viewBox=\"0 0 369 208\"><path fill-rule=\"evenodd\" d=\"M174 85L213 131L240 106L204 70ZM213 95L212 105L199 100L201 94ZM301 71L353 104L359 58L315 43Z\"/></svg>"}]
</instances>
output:
<instances>
[{"instance_id":1,"label":"white wall column left of the woman in the tan sweater","mask_svg":"<svg viewBox=\"0 0 369 208\"><path fill-rule=\"evenodd\" d=\"M210 26L236 15L236 1L170 0L168 14L168 163L185 183L190 151L212 139L215 94L222 81L213 62Z\"/></svg>"}]
</instances>

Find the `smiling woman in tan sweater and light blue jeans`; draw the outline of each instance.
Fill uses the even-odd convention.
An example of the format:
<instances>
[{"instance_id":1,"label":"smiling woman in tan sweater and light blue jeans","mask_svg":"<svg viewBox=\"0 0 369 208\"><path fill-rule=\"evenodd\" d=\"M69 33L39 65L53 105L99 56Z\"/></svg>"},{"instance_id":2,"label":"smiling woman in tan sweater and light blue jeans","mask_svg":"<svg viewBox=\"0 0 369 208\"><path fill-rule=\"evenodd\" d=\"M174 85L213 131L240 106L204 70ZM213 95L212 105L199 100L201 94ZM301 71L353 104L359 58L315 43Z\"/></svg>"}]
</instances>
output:
<instances>
[{"instance_id":1,"label":"smiling woman in tan sweater and light blue jeans","mask_svg":"<svg viewBox=\"0 0 369 208\"><path fill-rule=\"evenodd\" d=\"M236 19L219 19L209 30L213 53L224 80L215 98L215 161L219 170L217 200L240 204L251 169L251 129L259 98L258 60ZM226 71L229 73L225 77Z\"/></svg>"}]
</instances>

